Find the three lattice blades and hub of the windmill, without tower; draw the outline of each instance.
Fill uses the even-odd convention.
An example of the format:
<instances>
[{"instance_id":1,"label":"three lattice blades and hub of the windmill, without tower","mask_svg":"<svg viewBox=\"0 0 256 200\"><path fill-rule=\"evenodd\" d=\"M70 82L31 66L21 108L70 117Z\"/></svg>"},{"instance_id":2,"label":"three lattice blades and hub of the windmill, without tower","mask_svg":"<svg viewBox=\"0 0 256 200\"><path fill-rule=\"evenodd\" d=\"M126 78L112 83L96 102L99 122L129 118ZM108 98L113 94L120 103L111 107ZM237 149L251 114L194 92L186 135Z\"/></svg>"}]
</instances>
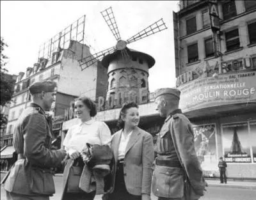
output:
<instances>
[{"instance_id":1,"label":"three lattice blades and hub of the windmill, without tower","mask_svg":"<svg viewBox=\"0 0 256 200\"><path fill-rule=\"evenodd\" d=\"M100 12L102 14L102 17L108 24L109 29L113 33L113 36L115 36L115 39L117 41L116 45L113 47L110 47L108 49L102 50L100 52L97 52L91 56L87 56L85 58L79 59L79 65L81 66L81 70L84 70L88 66L93 65L93 63L96 63L97 61L104 58L104 56L111 54L115 51L120 51L122 56L124 58L129 58L129 54L127 52L127 44L136 42L138 40L141 40L142 38L145 38L147 36L153 35L157 32L163 31L164 29L167 29L166 25L164 24L163 19L159 19L150 26L146 27L139 33L137 33L134 36L131 36L128 40L122 40L120 37L120 33L118 30L118 26L116 24L115 16L113 13L113 10L111 7L107 8L106 10Z\"/></svg>"}]
</instances>

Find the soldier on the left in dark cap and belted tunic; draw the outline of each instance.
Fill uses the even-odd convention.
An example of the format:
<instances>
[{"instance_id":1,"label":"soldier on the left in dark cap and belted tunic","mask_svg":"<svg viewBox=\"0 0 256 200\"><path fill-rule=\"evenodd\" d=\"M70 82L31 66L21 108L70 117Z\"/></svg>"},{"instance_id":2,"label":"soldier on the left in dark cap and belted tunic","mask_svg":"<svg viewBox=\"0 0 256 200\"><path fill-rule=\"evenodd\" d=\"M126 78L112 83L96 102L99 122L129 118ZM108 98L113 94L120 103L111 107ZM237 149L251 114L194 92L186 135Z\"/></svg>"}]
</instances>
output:
<instances>
[{"instance_id":1,"label":"soldier on the left in dark cap and belted tunic","mask_svg":"<svg viewBox=\"0 0 256 200\"><path fill-rule=\"evenodd\" d=\"M6 198L45 200L55 193L52 174L66 156L65 150L51 150L50 111L56 82L35 82L29 87L31 104L20 114L13 132L17 162L4 182Z\"/></svg>"}]
</instances>

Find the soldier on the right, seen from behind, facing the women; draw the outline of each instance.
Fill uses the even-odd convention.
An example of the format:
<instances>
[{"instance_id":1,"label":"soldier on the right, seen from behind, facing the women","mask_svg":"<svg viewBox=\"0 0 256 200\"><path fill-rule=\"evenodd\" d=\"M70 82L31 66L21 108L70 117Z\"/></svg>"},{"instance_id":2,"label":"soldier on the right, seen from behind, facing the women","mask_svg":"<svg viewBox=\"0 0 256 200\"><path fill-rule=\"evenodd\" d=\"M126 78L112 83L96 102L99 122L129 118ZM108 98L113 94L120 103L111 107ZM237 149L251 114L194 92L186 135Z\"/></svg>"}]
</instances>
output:
<instances>
[{"instance_id":1,"label":"soldier on the right, seen from behind, facing the women","mask_svg":"<svg viewBox=\"0 0 256 200\"><path fill-rule=\"evenodd\" d=\"M155 98L156 110L166 119L157 134L152 191L159 200L199 199L204 195L205 182L196 157L193 128L179 109L180 91L157 89Z\"/></svg>"}]
</instances>

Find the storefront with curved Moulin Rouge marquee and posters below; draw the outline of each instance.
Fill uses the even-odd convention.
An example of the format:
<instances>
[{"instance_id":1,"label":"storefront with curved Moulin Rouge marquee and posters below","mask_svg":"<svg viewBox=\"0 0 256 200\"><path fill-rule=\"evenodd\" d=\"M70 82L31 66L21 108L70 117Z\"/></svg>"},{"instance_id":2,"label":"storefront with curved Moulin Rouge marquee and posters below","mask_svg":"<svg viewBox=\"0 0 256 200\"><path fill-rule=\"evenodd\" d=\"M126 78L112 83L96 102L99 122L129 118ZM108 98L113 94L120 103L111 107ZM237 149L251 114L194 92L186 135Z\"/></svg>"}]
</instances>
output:
<instances>
[{"instance_id":1,"label":"storefront with curved Moulin Rouge marquee and posters below","mask_svg":"<svg viewBox=\"0 0 256 200\"><path fill-rule=\"evenodd\" d=\"M198 78L179 89L205 175L218 176L218 158L224 157L228 177L255 179L255 70Z\"/></svg>"}]
</instances>

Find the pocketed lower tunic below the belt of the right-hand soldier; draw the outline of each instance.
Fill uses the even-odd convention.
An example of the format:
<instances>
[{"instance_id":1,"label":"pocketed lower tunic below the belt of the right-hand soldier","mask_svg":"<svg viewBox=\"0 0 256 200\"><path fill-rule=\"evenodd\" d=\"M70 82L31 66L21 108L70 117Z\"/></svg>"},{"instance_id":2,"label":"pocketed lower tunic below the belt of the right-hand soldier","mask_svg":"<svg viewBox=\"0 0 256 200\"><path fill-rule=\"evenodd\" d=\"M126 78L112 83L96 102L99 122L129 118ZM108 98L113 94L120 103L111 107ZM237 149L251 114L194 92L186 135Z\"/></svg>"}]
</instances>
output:
<instances>
[{"instance_id":1,"label":"pocketed lower tunic below the belt of the right-hand soldier","mask_svg":"<svg viewBox=\"0 0 256 200\"><path fill-rule=\"evenodd\" d=\"M183 197L184 179L182 169L156 165L152 180L152 192L157 197Z\"/></svg>"}]
</instances>

